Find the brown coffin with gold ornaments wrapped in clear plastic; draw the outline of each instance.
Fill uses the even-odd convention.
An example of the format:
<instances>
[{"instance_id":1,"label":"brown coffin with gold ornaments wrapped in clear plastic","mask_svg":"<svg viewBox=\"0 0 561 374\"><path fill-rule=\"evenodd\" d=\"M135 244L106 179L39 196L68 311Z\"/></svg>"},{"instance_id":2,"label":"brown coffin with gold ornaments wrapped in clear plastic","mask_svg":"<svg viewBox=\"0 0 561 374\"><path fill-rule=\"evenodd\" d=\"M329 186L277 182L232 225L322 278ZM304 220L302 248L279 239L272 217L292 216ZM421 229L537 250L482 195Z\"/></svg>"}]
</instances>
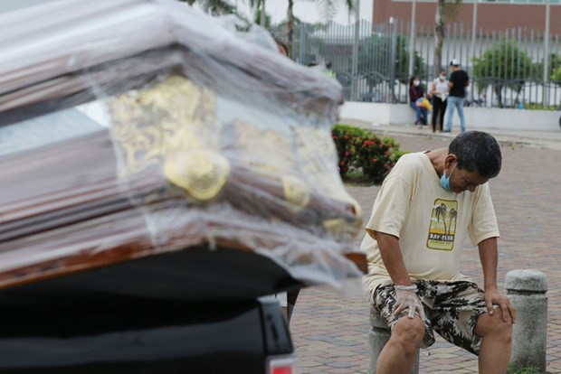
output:
<instances>
[{"instance_id":1,"label":"brown coffin with gold ornaments wrapped in clear plastic","mask_svg":"<svg viewBox=\"0 0 561 374\"><path fill-rule=\"evenodd\" d=\"M335 79L173 0L40 9L0 19L0 148L66 136L0 152L0 287L199 245L308 285L360 275Z\"/></svg>"}]
</instances>

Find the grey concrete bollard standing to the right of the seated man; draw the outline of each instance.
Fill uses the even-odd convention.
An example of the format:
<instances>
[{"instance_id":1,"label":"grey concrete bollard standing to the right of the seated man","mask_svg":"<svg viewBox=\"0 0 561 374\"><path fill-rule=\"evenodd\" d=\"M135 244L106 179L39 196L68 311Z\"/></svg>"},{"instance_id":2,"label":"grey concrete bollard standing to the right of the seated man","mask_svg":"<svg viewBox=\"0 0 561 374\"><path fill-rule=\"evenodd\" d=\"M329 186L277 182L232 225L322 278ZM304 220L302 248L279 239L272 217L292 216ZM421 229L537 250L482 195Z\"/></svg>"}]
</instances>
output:
<instances>
[{"instance_id":1,"label":"grey concrete bollard standing to the right of the seated man","mask_svg":"<svg viewBox=\"0 0 561 374\"><path fill-rule=\"evenodd\" d=\"M545 373L547 277L538 270L512 270L505 278L505 288L517 315L510 362L515 368L534 366Z\"/></svg>"}]
</instances>

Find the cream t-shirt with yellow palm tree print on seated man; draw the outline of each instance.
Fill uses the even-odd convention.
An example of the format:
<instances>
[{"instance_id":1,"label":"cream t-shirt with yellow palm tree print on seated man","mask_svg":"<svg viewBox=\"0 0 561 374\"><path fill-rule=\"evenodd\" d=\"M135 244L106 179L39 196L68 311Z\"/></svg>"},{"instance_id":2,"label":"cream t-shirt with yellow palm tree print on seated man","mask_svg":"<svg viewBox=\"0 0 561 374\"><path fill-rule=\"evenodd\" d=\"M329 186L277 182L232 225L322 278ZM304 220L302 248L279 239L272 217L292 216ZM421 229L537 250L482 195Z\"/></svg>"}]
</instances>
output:
<instances>
[{"instance_id":1,"label":"cream t-shirt with yellow palm tree print on seated man","mask_svg":"<svg viewBox=\"0 0 561 374\"><path fill-rule=\"evenodd\" d=\"M366 224L361 249L368 259L366 288L391 283L375 232L399 238L405 267L412 279L469 280L460 273L463 239L477 246L499 237L489 183L475 192L447 192L427 154L404 154L387 175Z\"/></svg>"}]
</instances>

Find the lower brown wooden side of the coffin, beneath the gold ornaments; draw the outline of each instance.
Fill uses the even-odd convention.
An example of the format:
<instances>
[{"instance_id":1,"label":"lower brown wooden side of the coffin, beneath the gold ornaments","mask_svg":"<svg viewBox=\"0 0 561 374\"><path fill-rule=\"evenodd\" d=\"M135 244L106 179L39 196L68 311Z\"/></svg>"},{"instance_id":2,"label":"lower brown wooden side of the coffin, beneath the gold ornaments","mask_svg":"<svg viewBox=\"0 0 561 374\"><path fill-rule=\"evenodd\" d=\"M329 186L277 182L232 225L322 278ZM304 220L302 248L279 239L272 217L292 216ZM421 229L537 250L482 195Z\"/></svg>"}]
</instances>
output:
<instances>
[{"instance_id":1,"label":"lower brown wooden side of the coffin, beneath the gold ornaments","mask_svg":"<svg viewBox=\"0 0 561 374\"><path fill-rule=\"evenodd\" d=\"M321 249L317 236L327 235L324 221L356 220L352 204L325 196L291 210L281 178L241 166L204 203L157 170L122 181L107 130L0 158L0 168L8 186L0 198L0 287L204 244L252 252L296 240L313 251ZM313 256L296 263L311 265Z\"/></svg>"}]
</instances>

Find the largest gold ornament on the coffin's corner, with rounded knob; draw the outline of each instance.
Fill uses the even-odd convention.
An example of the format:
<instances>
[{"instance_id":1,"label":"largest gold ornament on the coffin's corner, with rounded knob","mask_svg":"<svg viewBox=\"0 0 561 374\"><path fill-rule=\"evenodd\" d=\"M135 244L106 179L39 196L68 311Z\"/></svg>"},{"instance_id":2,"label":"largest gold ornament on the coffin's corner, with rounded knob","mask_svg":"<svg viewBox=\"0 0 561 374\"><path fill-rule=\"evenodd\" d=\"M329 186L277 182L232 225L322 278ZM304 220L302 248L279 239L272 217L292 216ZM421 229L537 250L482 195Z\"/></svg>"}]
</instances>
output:
<instances>
[{"instance_id":1,"label":"largest gold ornament on the coffin's corner, with rounded knob","mask_svg":"<svg viewBox=\"0 0 561 374\"><path fill-rule=\"evenodd\" d=\"M214 198L231 171L219 154L222 126L215 110L213 91L180 76L110 100L119 177L157 165L195 200Z\"/></svg>"}]
</instances>

